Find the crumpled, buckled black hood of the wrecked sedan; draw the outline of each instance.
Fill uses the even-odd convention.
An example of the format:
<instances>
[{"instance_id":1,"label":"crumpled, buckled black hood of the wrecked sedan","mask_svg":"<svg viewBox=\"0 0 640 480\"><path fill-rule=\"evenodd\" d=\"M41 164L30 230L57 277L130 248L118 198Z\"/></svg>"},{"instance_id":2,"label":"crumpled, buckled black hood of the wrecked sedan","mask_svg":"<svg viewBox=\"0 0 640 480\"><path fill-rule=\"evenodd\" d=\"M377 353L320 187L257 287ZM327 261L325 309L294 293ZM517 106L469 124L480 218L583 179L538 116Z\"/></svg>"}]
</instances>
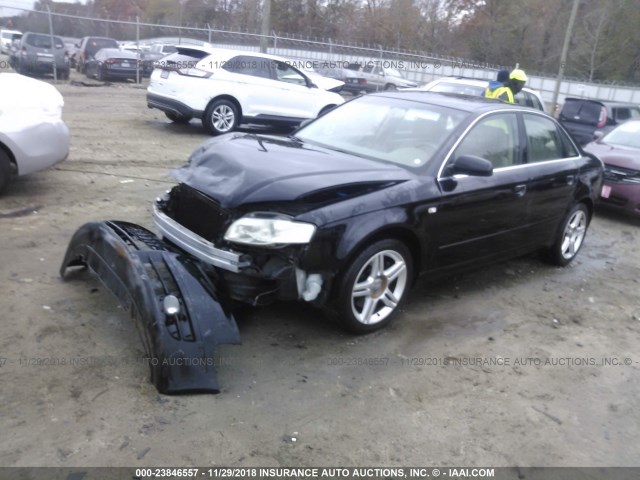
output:
<instances>
[{"instance_id":1,"label":"crumpled, buckled black hood of the wrecked sedan","mask_svg":"<svg viewBox=\"0 0 640 480\"><path fill-rule=\"evenodd\" d=\"M393 164L291 138L237 133L205 142L172 174L223 208L260 202L331 203L415 178Z\"/></svg>"}]
</instances>

